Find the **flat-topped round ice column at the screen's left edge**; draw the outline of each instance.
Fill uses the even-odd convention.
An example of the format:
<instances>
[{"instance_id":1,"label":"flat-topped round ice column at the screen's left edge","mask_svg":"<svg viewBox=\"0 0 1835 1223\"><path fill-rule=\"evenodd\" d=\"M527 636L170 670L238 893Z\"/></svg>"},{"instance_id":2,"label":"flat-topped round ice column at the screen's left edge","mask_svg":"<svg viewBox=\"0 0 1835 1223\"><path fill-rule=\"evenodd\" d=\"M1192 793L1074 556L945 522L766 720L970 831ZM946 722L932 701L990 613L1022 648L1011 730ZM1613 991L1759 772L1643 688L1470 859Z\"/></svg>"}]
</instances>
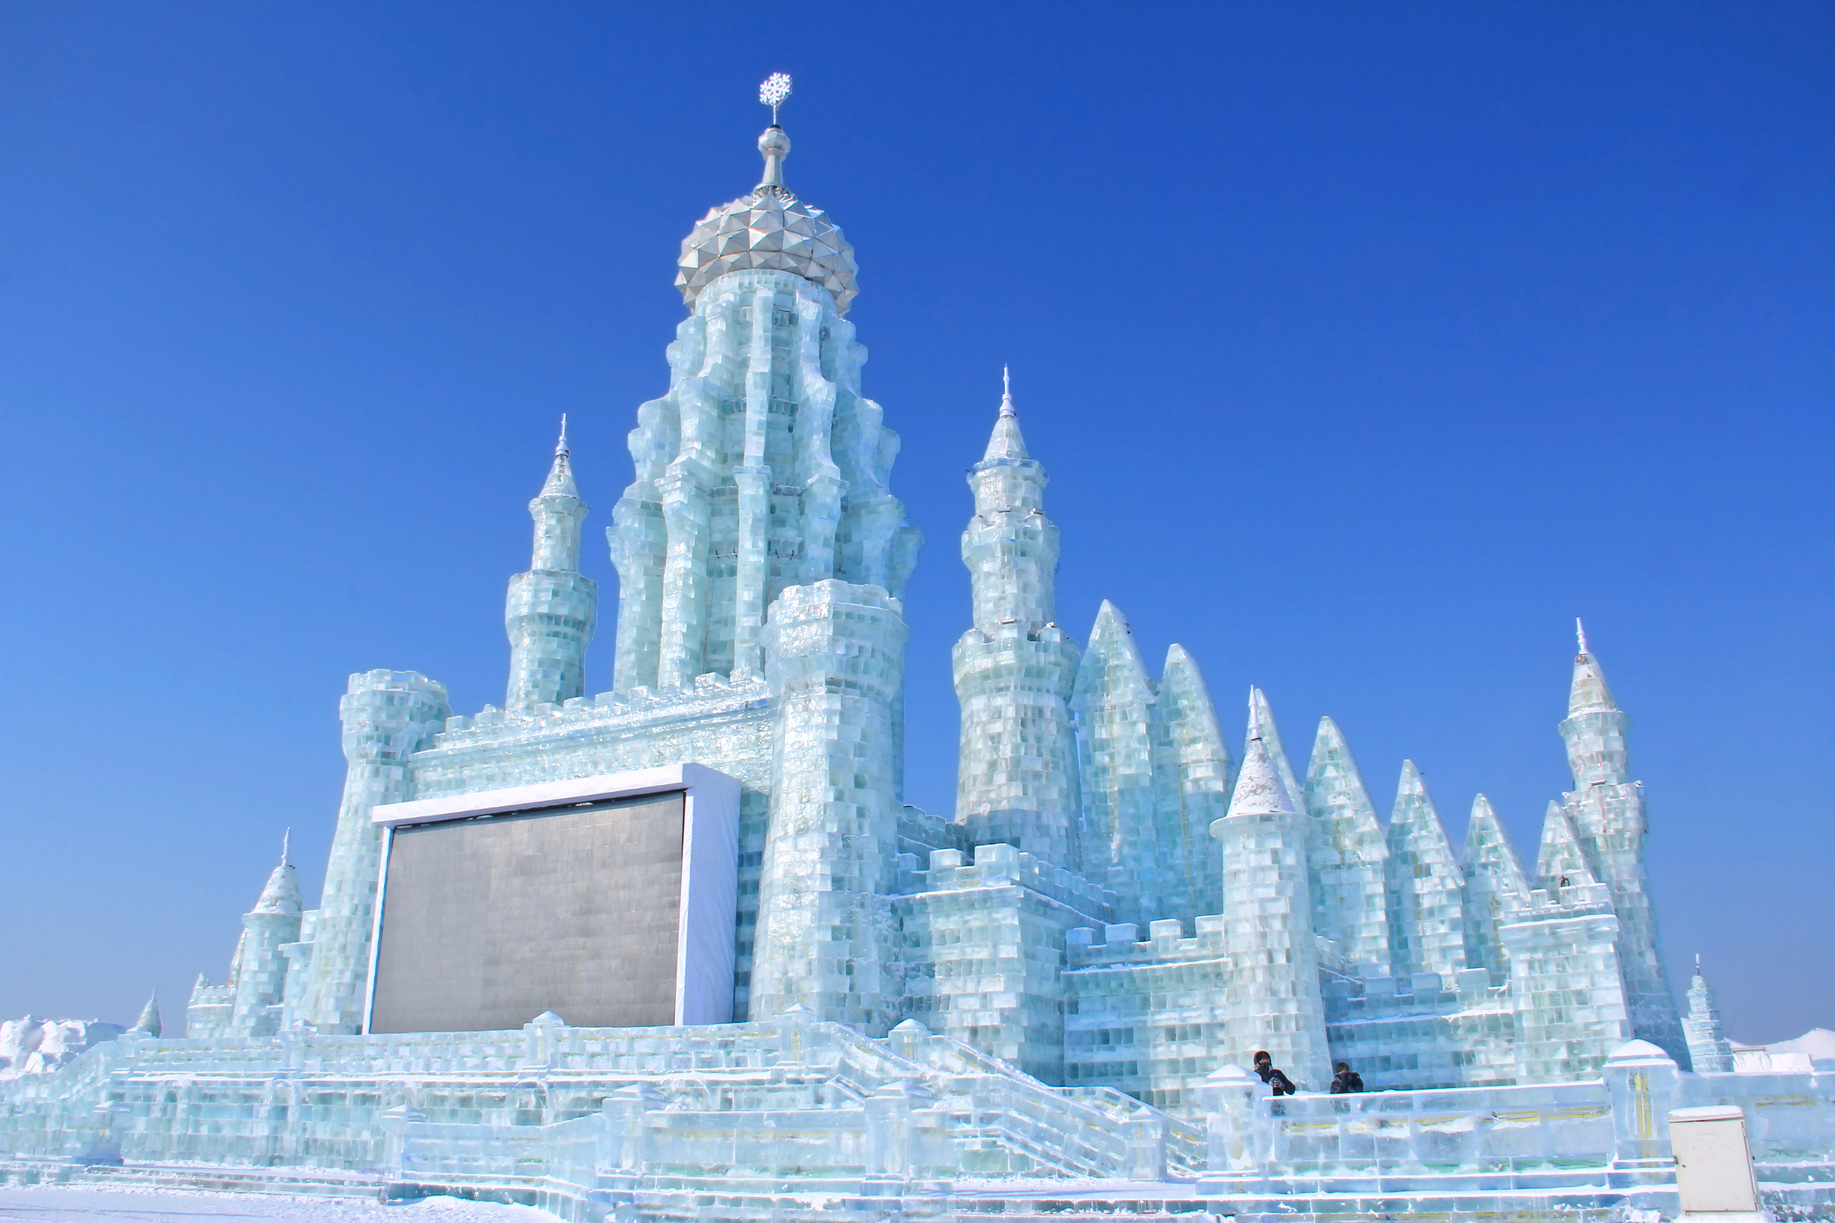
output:
<instances>
[{"instance_id":1,"label":"flat-topped round ice column at the screen's left edge","mask_svg":"<svg viewBox=\"0 0 1835 1223\"><path fill-rule=\"evenodd\" d=\"M446 686L415 671L350 677L343 717L343 805L325 867L312 972L303 1018L325 1034L350 1036L363 1023L369 935L376 913L382 832L369 820L376 803L413 798L409 757L440 730L451 710Z\"/></svg>"}]
</instances>

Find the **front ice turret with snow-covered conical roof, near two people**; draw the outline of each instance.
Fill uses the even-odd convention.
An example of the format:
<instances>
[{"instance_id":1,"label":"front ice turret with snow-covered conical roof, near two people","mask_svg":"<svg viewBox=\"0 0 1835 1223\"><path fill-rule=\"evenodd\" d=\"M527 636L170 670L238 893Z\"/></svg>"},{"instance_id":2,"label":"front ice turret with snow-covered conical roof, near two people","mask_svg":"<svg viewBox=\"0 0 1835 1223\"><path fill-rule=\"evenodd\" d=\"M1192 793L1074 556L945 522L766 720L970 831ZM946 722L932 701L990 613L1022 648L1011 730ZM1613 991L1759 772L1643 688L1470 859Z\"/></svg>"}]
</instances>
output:
<instances>
[{"instance_id":1,"label":"front ice turret with snow-covered conical roof, near two people","mask_svg":"<svg viewBox=\"0 0 1835 1223\"><path fill-rule=\"evenodd\" d=\"M1301 816L1262 739L1250 700L1248 746L1229 812L1211 825L1224 843L1224 1062L1253 1065L1266 1049L1297 1084L1319 1091L1330 1078L1319 959Z\"/></svg>"}]
</instances>

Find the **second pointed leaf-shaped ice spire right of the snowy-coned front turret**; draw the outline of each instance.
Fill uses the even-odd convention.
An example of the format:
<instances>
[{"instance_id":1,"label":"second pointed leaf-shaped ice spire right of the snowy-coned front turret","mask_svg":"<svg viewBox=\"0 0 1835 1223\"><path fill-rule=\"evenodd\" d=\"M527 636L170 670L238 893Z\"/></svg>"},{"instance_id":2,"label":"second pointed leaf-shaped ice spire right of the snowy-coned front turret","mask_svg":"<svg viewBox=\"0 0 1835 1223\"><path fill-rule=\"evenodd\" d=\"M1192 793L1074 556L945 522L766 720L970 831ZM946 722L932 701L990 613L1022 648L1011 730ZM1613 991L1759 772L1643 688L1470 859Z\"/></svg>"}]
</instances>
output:
<instances>
[{"instance_id":1,"label":"second pointed leaf-shaped ice spire right of the snowy-coned front turret","mask_svg":"<svg viewBox=\"0 0 1835 1223\"><path fill-rule=\"evenodd\" d=\"M1402 761L1387 840L1395 975L1437 972L1450 985L1466 966L1466 880L1415 761Z\"/></svg>"}]
</instances>

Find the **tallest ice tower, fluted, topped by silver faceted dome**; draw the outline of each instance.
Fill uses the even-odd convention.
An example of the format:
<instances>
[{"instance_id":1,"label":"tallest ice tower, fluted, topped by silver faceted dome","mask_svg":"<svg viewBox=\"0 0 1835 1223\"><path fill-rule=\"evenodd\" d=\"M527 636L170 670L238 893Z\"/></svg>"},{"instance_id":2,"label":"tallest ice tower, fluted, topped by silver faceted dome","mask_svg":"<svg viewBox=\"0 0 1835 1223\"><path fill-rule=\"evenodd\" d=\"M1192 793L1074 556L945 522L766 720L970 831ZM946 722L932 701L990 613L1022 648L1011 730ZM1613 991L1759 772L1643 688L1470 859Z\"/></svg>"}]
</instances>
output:
<instances>
[{"instance_id":1,"label":"tallest ice tower, fluted, topped by silver faceted dome","mask_svg":"<svg viewBox=\"0 0 1835 1223\"><path fill-rule=\"evenodd\" d=\"M839 579L899 598L918 556L886 486L899 438L861 394L866 348L840 317L853 249L784 187L780 127L760 152L765 180L683 242L692 314L668 350L668 394L629 435L637 479L607 530L620 693L752 675L785 589Z\"/></svg>"}]
</instances>

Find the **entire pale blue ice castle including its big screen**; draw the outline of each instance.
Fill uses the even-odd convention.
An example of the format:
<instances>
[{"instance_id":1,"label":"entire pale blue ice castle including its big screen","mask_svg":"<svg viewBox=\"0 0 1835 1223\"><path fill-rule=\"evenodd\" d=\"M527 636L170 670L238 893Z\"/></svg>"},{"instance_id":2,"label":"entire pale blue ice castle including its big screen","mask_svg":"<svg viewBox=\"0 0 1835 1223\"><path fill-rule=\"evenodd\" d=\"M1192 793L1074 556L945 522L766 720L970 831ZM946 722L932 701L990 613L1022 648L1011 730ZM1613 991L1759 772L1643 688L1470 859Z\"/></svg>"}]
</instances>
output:
<instances>
[{"instance_id":1,"label":"entire pale blue ice castle including its big screen","mask_svg":"<svg viewBox=\"0 0 1835 1223\"><path fill-rule=\"evenodd\" d=\"M758 147L683 242L670 389L629 435L611 689L563 431L503 708L352 675L317 908L283 854L184 1038L143 1019L0 1087L0 1168L582 1219L1053 1194L987 1188L1011 1177L1130 1184L1083 1190L1108 1214L1584 1217L1674 1203L1696 1106L1736 1109L1763 1175L1835 1179L1835 1065L1734 1074L1699 977L1685 1036L1584 634L1532 862L1483 796L1455 851L1413 763L1384 823L1330 719L1296 768L1251 689L1235 754L1182 647L1156 677L1112 603L1081 644L1057 623L1011 392L969 469L956 810L903 803L899 438L861 387L853 248L785 187L774 121ZM1336 1062L1371 1091L1321 1095Z\"/></svg>"}]
</instances>

